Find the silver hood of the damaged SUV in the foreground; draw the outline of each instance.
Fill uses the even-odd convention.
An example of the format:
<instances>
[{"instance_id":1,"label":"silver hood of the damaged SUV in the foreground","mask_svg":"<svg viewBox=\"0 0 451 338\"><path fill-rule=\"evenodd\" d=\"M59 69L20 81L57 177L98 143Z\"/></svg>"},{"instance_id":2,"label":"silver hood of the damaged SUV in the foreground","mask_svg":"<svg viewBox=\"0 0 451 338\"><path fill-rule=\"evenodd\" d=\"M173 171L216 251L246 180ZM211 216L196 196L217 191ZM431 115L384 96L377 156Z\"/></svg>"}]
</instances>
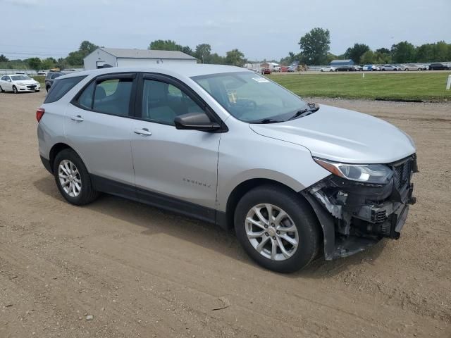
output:
<instances>
[{"instance_id":1,"label":"silver hood of the damaged SUV in the foreground","mask_svg":"<svg viewBox=\"0 0 451 338\"><path fill-rule=\"evenodd\" d=\"M412 139L371 115L321 105L304 118L266 125L257 134L305 146L312 156L342 163L391 163L414 154Z\"/></svg>"}]
</instances>

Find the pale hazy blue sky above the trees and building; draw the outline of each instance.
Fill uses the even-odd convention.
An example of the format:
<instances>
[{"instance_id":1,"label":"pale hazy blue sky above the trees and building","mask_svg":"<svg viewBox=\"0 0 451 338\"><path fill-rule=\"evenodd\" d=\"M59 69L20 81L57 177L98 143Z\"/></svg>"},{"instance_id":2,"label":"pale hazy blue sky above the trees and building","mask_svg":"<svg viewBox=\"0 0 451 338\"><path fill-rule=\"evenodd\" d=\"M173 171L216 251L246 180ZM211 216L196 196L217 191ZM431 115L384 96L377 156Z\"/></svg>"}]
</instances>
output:
<instances>
[{"instance_id":1,"label":"pale hazy blue sky above the trees and building","mask_svg":"<svg viewBox=\"0 0 451 338\"><path fill-rule=\"evenodd\" d=\"M146 49L171 39L279 60L298 53L299 38L314 27L330 30L333 54L355 42L371 49L451 43L451 0L0 0L0 16L0 54L10 59L64 57L83 40Z\"/></svg>"}]
</instances>

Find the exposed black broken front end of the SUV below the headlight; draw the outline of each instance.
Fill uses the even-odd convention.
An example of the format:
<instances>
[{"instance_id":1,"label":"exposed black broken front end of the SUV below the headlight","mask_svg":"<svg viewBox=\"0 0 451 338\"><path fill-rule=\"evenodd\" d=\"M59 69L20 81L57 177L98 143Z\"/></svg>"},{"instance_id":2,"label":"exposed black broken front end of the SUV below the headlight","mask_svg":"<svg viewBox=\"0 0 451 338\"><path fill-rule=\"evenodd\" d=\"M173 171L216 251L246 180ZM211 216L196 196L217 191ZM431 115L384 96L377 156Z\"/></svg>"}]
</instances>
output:
<instances>
[{"instance_id":1,"label":"exposed black broken front end of the SUV below the headlight","mask_svg":"<svg viewBox=\"0 0 451 338\"><path fill-rule=\"evenodd\" d=\"M390 163L388 184L367 184L330 175L301 193L309 201L324 234L326 260L350 256L383 237L398 239L409 211L418 172L416 156Z\"/></svg>"}]
</instances>

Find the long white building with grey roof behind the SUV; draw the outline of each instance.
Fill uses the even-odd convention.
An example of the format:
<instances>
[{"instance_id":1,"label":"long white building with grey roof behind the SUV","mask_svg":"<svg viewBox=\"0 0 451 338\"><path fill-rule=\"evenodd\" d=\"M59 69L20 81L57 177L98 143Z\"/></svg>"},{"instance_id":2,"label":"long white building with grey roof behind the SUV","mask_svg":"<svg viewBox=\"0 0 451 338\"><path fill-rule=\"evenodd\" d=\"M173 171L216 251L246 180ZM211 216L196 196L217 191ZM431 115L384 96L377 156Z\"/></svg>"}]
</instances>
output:
<instances>
[{"instance_id":1,"label":"long white building with grey roof behind the SUV","mask_svg":"<svg viewBox=\"0 0 451 338\"><path fill-rule=\"evenodd\" d=\"M197 63L194 56L181 51L98 48L83 59L85 70L111 67L150 66L154 63Z\"/></svg>"}]
</instances>

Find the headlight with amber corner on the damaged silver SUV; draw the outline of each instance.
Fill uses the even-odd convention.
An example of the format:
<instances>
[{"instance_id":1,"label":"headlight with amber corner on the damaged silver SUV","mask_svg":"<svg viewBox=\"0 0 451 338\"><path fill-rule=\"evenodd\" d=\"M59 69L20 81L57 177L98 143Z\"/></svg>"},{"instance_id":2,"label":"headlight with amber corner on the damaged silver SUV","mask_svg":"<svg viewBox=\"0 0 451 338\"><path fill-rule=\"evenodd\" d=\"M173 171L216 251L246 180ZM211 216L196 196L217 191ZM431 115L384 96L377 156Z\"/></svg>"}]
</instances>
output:
<instances>
[{"instance_id":1,"label":"headlight with amber corner on the damaged silver SUV","mask_svg":"<svg viewBox=\"0 0 451 338\"><path fill-rule=\"evenodd\" d=\"M393 176L393 170L384 164L349 164L322 158L314 158L314 161L334 175L357 182L387 184Z\"/></svg>"}]
</instances>

